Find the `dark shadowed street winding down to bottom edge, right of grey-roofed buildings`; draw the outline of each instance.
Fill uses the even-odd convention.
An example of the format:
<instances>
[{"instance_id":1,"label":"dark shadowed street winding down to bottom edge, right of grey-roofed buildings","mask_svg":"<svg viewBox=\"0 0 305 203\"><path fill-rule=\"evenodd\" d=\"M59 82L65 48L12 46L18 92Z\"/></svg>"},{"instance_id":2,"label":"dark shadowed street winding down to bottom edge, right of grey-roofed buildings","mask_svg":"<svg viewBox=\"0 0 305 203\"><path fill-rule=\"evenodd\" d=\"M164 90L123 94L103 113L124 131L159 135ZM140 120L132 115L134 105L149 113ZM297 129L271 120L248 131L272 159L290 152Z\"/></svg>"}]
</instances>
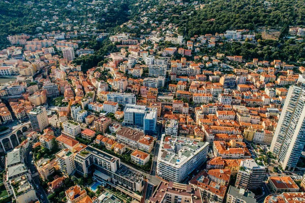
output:
<instances>
[{"instance_id":1,"label":"dark shadowed street winding down to bottom edge, right of grey-roofed buildings","mask_svg":"<svg viewBox=\"0 0 305 203\"><path fill-rule=\"evenodd\" d=\"M33 156L31 154L29 154L29 151L32 150L32 146L33 146L33 144L31 144L31 146L29 146L29 148L26 152L26 157L24 159L24 164L27 167L27 169L30 170L30 174L32 176L31 184L33 185L34 188L36 188L36 194L37 194L37 197L40 199L40 202L49 203L49 200L47 198L47 194L45 193L44 189L40 186L39 174L36 170L36 167L34 166L34 164L32 164ZM38 185L38 188L37 188L37 185Z\"/></svg>"}]
</instances>

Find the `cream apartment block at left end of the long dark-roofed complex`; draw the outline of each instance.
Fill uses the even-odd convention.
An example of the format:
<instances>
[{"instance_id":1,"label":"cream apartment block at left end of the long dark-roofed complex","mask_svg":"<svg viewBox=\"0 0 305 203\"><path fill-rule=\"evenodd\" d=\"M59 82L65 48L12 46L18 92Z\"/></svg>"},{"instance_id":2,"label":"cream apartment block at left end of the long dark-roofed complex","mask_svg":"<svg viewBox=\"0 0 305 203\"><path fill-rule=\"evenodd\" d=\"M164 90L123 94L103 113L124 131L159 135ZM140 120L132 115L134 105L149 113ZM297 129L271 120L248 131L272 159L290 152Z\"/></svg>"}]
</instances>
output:
<instances>
[{"instance_id":1,"label":"cream apartment block at left end of the long dark-roofed complex","mask_svg":"<svg viewBox=\"0 0 305 203\"><path fill-rule=\"evenodd\" d=\"M60 150L56 154L60 172L65 176L70 176L75 170L74 155L69 149Z\"/></svg>"}]
</instances>

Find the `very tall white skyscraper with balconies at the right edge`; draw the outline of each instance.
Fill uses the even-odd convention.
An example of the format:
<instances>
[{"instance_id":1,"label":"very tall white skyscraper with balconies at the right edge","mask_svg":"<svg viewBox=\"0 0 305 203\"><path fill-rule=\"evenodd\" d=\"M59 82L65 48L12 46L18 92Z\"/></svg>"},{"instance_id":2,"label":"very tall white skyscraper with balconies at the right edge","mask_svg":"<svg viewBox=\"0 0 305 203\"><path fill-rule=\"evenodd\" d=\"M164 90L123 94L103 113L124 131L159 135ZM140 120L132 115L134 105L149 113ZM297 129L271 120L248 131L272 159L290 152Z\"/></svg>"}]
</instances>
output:
<instances>
[{"instance_id":1,"label":"very tall white skyscraper with balconies at the right edge","mask_svg":"<svg viewBox=\"0 0 305 203\"><path fill-rule=\"evenodd\" d=\"M305 82L290 86L270 151L284 170L294 170L305 144Z\"/></svg>"}]
</instances>

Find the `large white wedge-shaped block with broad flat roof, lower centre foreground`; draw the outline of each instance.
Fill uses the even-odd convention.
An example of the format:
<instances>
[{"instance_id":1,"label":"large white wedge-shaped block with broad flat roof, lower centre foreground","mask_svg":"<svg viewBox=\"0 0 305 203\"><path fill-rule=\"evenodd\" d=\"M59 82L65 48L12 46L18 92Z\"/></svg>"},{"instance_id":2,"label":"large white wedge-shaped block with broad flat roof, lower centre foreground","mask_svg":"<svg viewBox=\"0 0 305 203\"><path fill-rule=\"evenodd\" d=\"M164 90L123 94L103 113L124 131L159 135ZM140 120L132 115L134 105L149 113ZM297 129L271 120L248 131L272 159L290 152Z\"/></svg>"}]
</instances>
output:
<instances>
[{"instance_id":1,"label":"large white wedge-shaped block with broad flat roof, lower centre foreground","mask_svg":"<svg viewBox=\"0 0 305 203\"><path fill-rule=\"evenodd\" d=\"M206 161L207 152L208 142L165 137L163 134L157 159L157 175L166 181L180 183Z\"/></svg>"}]
</instances>

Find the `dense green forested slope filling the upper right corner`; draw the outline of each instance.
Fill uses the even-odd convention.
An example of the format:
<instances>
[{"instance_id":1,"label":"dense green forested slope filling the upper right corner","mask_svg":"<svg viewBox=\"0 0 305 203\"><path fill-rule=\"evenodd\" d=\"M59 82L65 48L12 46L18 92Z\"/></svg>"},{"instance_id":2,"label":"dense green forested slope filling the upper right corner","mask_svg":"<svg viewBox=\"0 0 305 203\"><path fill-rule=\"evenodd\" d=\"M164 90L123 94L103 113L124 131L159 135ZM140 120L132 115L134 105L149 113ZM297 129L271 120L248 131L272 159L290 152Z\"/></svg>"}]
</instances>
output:
<instances>
[{"instance_id":1,"label":"dense green forested slope filling the upper right corner","mask_svg":"<svg viewBox=\"0 0 305 203\"><path fill-rule=\"evenodd\" d=\"M188 20L189 36L194 34L223 33L229 29L258 26L305 26L303 0L217 0L206 1Z\"/></svg>"}]
</instances>

